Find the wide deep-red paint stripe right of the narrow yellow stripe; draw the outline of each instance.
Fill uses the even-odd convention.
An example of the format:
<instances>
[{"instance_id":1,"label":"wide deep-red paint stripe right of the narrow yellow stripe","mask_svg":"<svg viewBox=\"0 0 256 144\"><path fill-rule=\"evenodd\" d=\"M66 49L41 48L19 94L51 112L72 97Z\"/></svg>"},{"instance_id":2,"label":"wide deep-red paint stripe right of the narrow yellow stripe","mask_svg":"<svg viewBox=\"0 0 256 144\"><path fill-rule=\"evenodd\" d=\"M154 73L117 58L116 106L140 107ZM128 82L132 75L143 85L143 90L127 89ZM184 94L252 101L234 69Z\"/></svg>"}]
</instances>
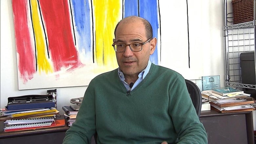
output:
<instances>
[{"instance_id":1,"label":"wide deep-red paint stripe right of the narrow yellow stripe","mask_svg":"<svg viewBox=\"0 0 256 144\"><path fill-rule=\"evenodd\" d=\"M72 37L68 1L40 0L39 3L46 26L54 70L59 71L61 67L77 67L80 62Z\"/></svg>"}]
</instances>

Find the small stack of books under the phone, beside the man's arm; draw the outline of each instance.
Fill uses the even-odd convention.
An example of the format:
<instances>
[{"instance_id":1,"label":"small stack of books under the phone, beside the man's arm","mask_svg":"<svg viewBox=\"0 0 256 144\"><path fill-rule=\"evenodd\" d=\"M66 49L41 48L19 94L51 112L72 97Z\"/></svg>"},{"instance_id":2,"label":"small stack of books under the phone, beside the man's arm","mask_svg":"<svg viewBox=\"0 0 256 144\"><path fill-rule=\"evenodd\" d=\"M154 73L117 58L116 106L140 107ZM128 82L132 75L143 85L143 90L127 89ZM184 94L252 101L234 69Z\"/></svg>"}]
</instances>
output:
<instances>
[{"instance_id":1,"label":"small stack of books under the phone, beside the man's arm","mask_svg":"<svg viewBox=\"0 0 256 144\"><path fill-rule=\"evenodd\" d=\"M75 122L78 111L72 109L70 106L63 106L62 110L64 111L64 117L68 126L72 126L72 124Z\"/></svg>"}]
</instances>

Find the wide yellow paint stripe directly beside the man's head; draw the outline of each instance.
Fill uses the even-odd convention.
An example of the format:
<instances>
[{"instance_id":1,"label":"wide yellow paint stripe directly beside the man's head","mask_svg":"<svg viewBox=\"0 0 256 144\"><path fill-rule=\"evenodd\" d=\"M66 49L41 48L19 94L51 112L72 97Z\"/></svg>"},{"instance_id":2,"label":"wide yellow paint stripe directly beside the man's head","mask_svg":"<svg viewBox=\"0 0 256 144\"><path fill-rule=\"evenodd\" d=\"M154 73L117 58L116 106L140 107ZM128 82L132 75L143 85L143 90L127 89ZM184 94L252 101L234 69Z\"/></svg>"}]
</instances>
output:
<instances>
[{"instance_id":1,"label":"wide yellow paint stripe directly beside the man's head","mask_svg":"<svg viewBox=\"0 0 256 144\"><path fill-rule=\"evenodd\" d=\"M114 30L122 18L121 0L94 0L95 57L99 66L117 67L116 53L112 47Z\"/></svg>"}]
</instances>

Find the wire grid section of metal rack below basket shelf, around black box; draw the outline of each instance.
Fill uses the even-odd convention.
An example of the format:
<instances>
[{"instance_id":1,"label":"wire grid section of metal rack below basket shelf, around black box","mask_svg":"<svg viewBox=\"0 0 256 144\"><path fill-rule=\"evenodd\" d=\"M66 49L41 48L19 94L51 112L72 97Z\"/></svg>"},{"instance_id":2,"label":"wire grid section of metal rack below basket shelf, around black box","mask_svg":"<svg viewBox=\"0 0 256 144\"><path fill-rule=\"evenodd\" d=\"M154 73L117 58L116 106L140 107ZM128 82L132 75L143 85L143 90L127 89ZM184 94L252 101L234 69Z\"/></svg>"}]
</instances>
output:
<instances>
[{"instance_id":1,"label":"wire grid section of metal rack below basket shelf, around black box","mask_svg":"<svg viewBox=\"0 0 256 144\"><path fill-rule=\"evenodd\" d=\"M228 29L228 70L230 86L255 88L255 85L241 84L240 54L245 51L254 51L254 28L248 25ZM237 85L236 85L237 84Z\"/></svg>"}]
</instances>

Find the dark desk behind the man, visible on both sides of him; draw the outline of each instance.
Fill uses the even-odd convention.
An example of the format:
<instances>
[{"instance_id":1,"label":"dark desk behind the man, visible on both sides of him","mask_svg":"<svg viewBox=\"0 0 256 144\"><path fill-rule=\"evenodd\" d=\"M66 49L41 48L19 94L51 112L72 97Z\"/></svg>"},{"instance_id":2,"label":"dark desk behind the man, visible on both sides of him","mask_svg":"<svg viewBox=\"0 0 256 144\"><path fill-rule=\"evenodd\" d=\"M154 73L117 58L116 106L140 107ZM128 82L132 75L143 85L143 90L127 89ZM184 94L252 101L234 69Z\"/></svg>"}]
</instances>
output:
<instances>
[{"instance_id":1,"label":"dark desk behind the man, visible on both sides of him","mask_svg":"<svg viewBox=\"0 0 256 144\"><path fill-rule=\"evenodd\" d=\"M63 119L63 116L60 119ZM220 113L203 111L200 121L208 135L208 144L254 144L252 112ZM3 132L0 122L0 144L61 144L69 129L42 128L18 132ZM92 143L95 143L92 137Z\"/></svg>"}]
</instances>

